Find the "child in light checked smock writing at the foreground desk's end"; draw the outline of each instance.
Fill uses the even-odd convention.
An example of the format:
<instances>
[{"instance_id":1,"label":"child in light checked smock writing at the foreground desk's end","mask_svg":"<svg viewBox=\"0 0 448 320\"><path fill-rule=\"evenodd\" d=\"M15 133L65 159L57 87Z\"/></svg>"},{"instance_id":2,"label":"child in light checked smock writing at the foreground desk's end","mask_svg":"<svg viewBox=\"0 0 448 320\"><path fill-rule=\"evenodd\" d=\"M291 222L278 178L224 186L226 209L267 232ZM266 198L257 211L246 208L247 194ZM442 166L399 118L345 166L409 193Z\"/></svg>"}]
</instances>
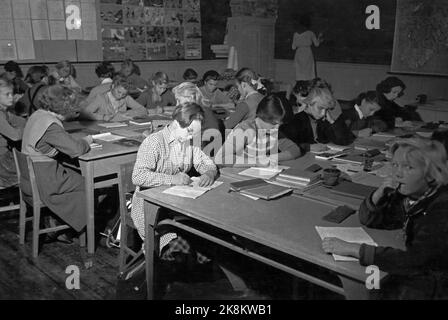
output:
<instances>
[{"instance_id":1,"label":"child in light checked smock writing at the foreground desk's end","mask_svg":"<svg viewBox=\"0 0 448 320\"><path fill-rule=\"evenodd\" d=\"M147 137L137 153L132 182L136 192L141 188L163 185L188 185L191 182L188 172L194 169L201 175L199 186L211 186L217 176L217 168L201 150L201 122L204 118L202 108L196 103L179 105L173 112L173 122L163 130ZM142 239L145 237L143 199L135 195L132 199L131 217ZM160 237L159 256L162 260L173 261L176 256L188 254L175 243L184 241L178 234L169 232ZM185 248L185 246L182 246ZM198 263L208 262L198 254Z\"/></svg>"}]
</instances>

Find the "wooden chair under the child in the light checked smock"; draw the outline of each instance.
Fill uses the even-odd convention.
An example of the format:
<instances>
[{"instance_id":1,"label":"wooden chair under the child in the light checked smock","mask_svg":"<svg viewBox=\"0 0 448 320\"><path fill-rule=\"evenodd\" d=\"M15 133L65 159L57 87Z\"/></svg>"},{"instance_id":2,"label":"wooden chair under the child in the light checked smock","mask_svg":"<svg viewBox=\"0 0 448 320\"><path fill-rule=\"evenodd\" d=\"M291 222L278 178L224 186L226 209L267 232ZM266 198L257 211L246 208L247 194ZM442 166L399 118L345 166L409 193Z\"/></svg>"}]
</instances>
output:
<instances>
[{"instance_id":1,"label":"wooden chair under the child in the light checked smock","mask_svg":"<svg viewBox=\"0 0 448 320\"><path fill-rule=\"evenodd\" d=\"M135 263L142 257L143 250L135 251L128 246L128 237L131 232L135 232L137 228L132 221L130 209L126 205L126 194L134 192L135 186L132 183L132 171L134 170L134 162L125 163L120 166L118 173L118 194L120 202L120 254L119 254L119 272L123 275L129 271L127 278L129 278L135 271L144 266L140 263L134 266Z\"/></svg>"}]
</instances>

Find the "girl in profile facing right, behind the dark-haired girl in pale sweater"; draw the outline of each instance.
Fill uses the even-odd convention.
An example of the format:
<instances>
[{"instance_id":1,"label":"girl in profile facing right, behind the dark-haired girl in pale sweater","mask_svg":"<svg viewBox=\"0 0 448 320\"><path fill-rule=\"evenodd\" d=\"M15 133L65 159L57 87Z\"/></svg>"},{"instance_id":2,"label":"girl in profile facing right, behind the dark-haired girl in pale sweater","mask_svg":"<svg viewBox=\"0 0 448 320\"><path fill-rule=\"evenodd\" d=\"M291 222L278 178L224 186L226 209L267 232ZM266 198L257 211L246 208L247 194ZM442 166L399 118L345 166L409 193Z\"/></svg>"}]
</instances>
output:
<instances>
[{"instance_id":1,"label":"girl in profile facing right, behind the dark-haired girl in pale sweater","mask_svg":"<svg viewBox=\"0 0 448 320\"><path fill-rule=\"evenodd\" d=\"M224 121L226 129L233 129L244 120L254 120L257 107L263 99L263 95L257 90L261 87L259 78L252 70L243 68L235 76L236 85L240 92L240 102L236 105L236 111Z\"/></svg>"}]
</instances>

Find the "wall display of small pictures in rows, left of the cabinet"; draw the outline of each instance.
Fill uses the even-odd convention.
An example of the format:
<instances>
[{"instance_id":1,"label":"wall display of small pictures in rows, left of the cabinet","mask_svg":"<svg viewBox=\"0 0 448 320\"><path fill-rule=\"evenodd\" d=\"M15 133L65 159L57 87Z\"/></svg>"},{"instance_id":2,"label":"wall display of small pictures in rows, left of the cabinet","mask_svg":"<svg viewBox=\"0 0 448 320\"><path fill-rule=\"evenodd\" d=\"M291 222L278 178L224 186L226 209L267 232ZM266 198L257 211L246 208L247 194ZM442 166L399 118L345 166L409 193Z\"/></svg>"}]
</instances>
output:
<instances>
[{"instance_id":1,"label":"wall display of small pictures in rows, left of the cabinet","mask_svg":"<svg viewBox=\"0 0 448 320\"><path fill-rule=\"evenodd\" d=\"M104 60L201 59L200 0L101 0Z\"/></svg>"}]
</instances>

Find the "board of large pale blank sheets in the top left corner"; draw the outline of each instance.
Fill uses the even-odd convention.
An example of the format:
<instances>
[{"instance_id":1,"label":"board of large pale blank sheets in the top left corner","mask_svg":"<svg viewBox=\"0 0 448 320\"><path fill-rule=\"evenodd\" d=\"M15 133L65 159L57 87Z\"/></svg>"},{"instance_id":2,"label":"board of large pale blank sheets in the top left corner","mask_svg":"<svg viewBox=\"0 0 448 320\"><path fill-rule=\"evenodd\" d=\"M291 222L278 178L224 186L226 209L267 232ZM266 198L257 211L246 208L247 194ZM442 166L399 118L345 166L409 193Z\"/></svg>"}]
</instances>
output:
<instances>
[{"instance_id":1,"label":"board of large pale blank sheets in the top left corner","mask_svg":"<svg viewBox=\"0 0 448 320\"><path fill-rule=\"evenodd\" d=\"M0 63L101 60L98 6L99 0L0 0Z\"/></svg>"}]
</instances>

